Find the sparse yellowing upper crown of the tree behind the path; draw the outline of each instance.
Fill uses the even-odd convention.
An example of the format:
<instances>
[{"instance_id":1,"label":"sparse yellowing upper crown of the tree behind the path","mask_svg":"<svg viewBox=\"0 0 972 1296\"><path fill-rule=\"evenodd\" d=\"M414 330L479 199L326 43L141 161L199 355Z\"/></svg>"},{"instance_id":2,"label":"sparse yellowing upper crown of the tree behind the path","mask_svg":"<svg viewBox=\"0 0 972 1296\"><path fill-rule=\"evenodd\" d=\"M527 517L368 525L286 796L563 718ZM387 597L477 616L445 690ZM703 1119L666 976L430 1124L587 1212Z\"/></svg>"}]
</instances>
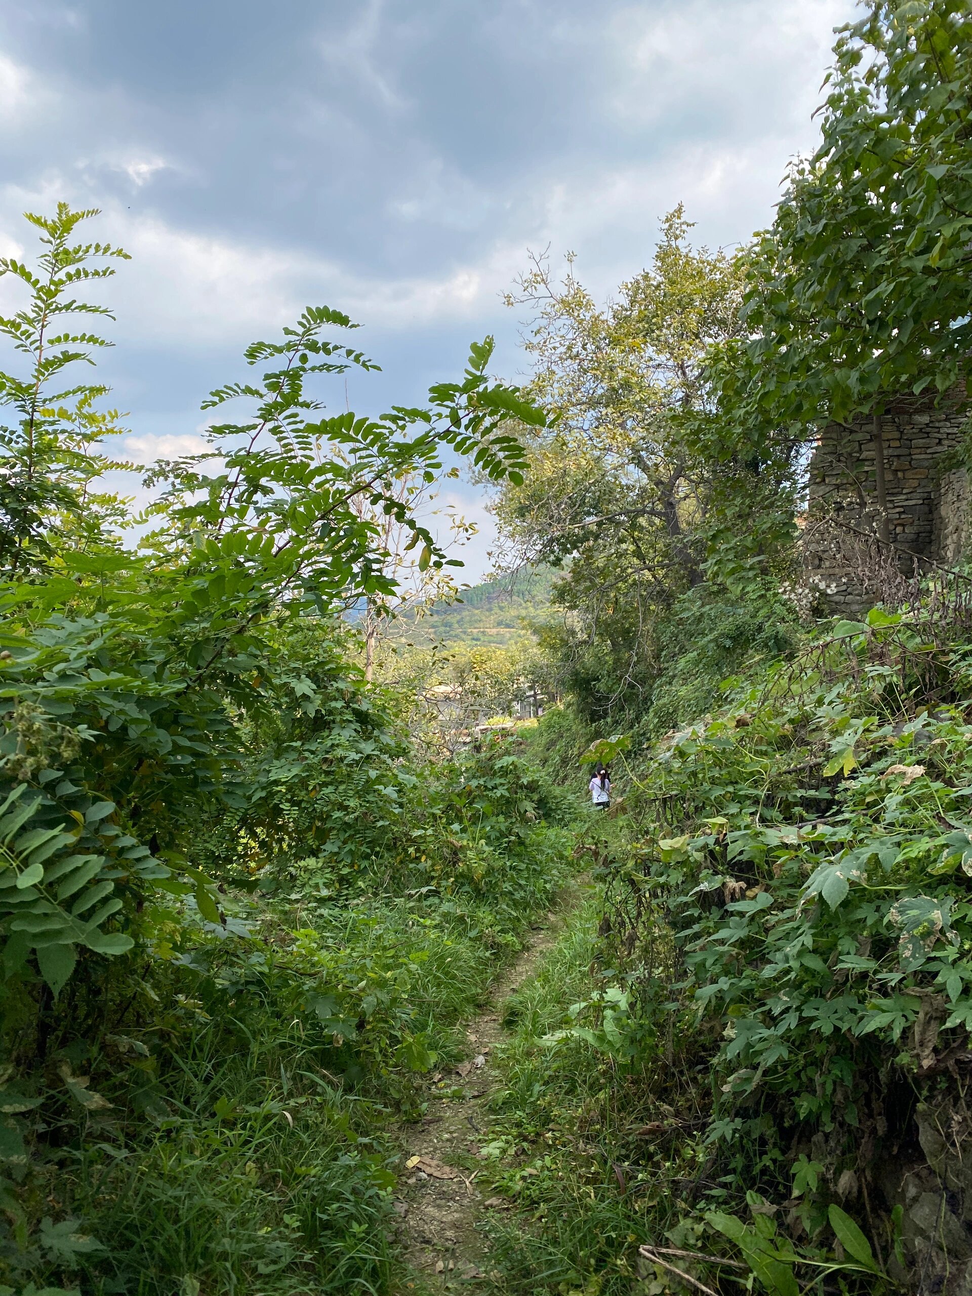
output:
<instances>
[{"instance_id":1,"label":"sparse yellowing upper crown of the tree behind the path","mask_svg":"<svg viewBox=\"0 0 972 1296\"><path fill-rule=\"evenodd\" d=\"M701 579L691 531L709 481L687 428L710 400L708 347L739 332L741 276L724 253L692 249L691 228L671 211L652 267L604 308L573 257L561 284L537 260L508 297L537 308L530 390L556 419L530 441L529 483L504 494L507 531L539 559L605 551L656 591Z\"/></svg>"}]
</instances>

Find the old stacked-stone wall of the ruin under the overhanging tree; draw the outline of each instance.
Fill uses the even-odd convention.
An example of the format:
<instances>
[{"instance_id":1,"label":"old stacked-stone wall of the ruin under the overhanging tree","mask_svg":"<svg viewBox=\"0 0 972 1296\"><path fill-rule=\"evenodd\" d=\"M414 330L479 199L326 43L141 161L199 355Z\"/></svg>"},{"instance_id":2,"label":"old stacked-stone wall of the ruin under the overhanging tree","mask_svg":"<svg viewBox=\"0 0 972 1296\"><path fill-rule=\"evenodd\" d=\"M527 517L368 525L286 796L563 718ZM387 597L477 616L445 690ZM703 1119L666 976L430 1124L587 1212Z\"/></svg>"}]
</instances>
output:
<instances>
[{"instance_id":1,"label":"old stacked-stone wall of the ruin under the overhanging tree","mask_svg":"<svg viewBox=\"0 0 972 1296\"><path fill-rule=\"evenodd\" d=\"M953 391L937 408L928 400L902 400L879 420L889 538L907 574L915 568L915 555L947 564L966 550L968 473L945 457L962 441L968 417L959 399L960 393ZM870 416L824 429L810 460L805 557L810 583L835 612L859 612L868 604L861 573L853 569L840 537L841 531L853 537L846 525L877 534L876 476ZM828 527L823 522L828 516L845 526Z\"/></svg>"}]
</instances>

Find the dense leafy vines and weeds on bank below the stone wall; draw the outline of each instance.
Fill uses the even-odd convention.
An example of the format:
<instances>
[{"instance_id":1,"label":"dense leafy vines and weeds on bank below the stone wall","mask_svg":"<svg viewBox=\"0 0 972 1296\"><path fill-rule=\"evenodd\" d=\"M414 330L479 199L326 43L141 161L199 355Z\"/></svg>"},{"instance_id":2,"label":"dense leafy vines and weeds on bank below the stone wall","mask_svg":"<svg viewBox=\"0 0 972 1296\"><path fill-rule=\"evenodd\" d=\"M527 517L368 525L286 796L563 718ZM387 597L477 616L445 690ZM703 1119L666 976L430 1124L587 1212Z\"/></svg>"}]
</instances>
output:
<instances>
[{"instance_id":1,"label":"dense leafy vines and weeds on bank below the stone wall","mask_svg":"<svg viewBox=\"0 0 972 1296\"><path fill-rule=\"evenodd\" d=\"M511 1291L722 1290L726 1238L769 1291L954 1274L968 669L964 635L875 609L656 746L597 744L627 770L599 940L578 912L509 1008Z\"/></svg>"}]
</instances>

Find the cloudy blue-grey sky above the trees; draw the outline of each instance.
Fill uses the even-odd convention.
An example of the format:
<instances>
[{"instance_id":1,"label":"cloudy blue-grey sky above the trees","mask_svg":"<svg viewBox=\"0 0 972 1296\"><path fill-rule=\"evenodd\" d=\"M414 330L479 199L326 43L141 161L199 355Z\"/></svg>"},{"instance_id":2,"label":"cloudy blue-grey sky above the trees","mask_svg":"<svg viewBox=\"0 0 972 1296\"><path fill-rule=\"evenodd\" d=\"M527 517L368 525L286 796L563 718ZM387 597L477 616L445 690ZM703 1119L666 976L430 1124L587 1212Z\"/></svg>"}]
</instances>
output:
<instances>
[{"instance_id":1,"label":"cloudy blue-grey sky above the trees","mask_svg":"<svg viewBox=\"0 0 972 1296\"><path fill-rule=\"evenodd\" d=\"M605 297L683 201L709 246L772 220L813 149L853 0L3 0L0 254L25 210L96 206L132 260L100 362L143 463L202 448L200 403L306 305L359 321L381 375L336 408L417 403L496 337L527 251L570 250ZM0 285L0 305L9 306ZM0 360L0 365L8 359ZM136 492L137 494L137 492ZM490 566L480 525L463 578Z\"/></svg>"}]
</instances>

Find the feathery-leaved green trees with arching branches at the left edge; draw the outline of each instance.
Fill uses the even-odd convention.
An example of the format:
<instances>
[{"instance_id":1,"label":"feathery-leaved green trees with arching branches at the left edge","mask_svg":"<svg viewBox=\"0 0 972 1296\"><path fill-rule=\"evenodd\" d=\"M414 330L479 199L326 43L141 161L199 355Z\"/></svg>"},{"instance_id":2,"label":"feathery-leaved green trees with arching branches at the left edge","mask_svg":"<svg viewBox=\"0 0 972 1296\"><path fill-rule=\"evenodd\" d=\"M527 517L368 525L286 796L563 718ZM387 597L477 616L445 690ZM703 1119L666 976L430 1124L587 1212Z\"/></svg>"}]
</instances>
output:
<instances>
[{"instance_id":1,"label":"feathery-leaved green trees with arching branches at the left edge","mask_svg":"<svg viewBox=\"0 0 972 1296\"><path fill-rule=\"evenodd\" d=\"M34 956L54 993L79 947L130 949L137 914L159 889L193 892L203 916L218 919L211 880L193 863L194 826L254 800L248 732L273 710L330 722L355 692L318 687L288 657L289 631L308 618L327 626L363 597L394 596L381 516L406 529L420 566L443 569L450 560L395 483L432 483L445 446L492 480L521 480L508 424L543 424L515 389L486 377L490 340L473 345L463 381L434 386L424 408L324 417L312 380L373 365L341 340L354 328L346 315L308 307L280 340L248 349L259 381L210 394L205 408L241 400L249 416L213 426L203 454L157 465L154 527L137 551L123 551L92 503L108 460L87 442L65 443L66 416L40 397L52 375L88 358L74 349L102 345L49 337L58 314L105 314L60 301L75 279L100 273L83 264L88 255L119 255L69 246L93 214L30 218L52 251L41 254L43 273L14 267L31 299L6 329L34 365L31 380L8 382L22 415L8 434L9 476L31 485L36 507L12 533L0 584L0 954L8 975ZM91 390L57 399L78 397L87 419ZM65 512L79 527L54 543Z\"/></svg>"}]
</instances>

